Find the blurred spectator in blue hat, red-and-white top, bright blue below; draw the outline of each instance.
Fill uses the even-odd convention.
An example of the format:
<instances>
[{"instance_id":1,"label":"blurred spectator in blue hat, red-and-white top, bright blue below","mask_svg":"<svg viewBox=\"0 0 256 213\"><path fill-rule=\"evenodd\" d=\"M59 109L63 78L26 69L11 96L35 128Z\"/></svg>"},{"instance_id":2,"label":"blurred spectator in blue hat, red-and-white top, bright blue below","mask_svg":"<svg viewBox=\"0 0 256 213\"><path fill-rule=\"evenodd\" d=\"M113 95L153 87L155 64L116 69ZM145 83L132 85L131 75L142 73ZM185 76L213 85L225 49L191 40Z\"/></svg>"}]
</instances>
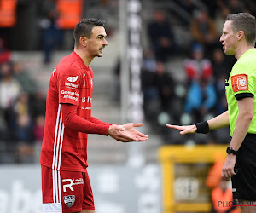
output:
<instances>
[{"instance_id":1,"label":"blurred spectator in blue hat, red-and-white top, bright blue below","mask_svg":"<svg viewBox=\"0 0 256 213\"><path fill-rule=\"evenodd\" d=\"M184 103L185 112L201 120L213 111L216 103L216 91L213 86L212 63L205 58L201 44L195 44L191 50L191 59L185 60L188 94Z\"/></svg>"}]
</instances>

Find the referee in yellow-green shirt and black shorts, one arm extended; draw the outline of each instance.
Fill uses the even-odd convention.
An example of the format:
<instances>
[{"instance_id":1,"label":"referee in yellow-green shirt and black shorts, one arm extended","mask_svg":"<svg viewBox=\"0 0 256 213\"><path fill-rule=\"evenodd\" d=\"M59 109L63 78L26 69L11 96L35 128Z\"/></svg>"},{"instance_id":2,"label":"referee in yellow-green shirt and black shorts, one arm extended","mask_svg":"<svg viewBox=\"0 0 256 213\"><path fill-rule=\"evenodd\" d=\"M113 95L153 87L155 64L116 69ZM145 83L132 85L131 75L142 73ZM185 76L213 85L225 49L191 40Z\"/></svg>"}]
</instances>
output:
<instances>
[{"instance_id":1,"label":"referee in yellow-green shirt and black shorts, one arm extended","mask_svg":"<svg viewBox=\"0 0 256 213\"><path fill-rule=\"evenodd\" d=\"M232 181L233 199L241 212L256 212L256 39L255 17L247 13L229 14L219 41L236 64L226 80L228 111L211 120L189 126L167 124L181 135L207 133L230 126L232 139L227 147L222 177Z\"/></svg>"}]
</instances>

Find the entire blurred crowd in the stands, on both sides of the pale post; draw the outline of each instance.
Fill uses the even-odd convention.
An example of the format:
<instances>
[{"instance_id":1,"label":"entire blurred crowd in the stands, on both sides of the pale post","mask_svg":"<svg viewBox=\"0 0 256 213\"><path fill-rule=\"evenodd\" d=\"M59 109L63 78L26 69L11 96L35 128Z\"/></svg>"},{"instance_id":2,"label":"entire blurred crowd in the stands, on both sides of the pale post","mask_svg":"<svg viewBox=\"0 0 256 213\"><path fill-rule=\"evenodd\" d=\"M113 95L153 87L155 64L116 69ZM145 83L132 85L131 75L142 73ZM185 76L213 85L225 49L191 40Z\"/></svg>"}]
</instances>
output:
<instances>
[{"instance_id":1,"label":"entire blurred crowd in the stands, on both sides of the pale post","mask_svg":"<svg viewBox=\"0 0 256 213\"><path fill-rule=\"evenodd\" d=\"M250 0L173 0L169 7L167 0L151 2L161 6L155 7L143 19L148 40L143 46L141 72L146 120L166 143L229 143L228 129L180 137L176 130L166 128L166 124L193 124L227 109L224 83L236 59L224 55L218 40L227 14L249 12L255 16L256 3ZM8 11L15 11L11 9L19 2L3 0L0 3L0 164L32 163L37 158L36 149L44 133L45 94L38 89L37 82L22 62L12 60L9 50L15 49L15 40L10 40L15 30L11 32L11 29L15 24L16 31L20 29L17 27L19 20L1 21L3 5L9 3ZM42 50L42 63L49 65L53 50L73 49L73 39L65 40L65 37L72 37L74 24L84 14L106 19L105 10L118 7L119 1L45 0L33 3L37 3L40 37L35 49ZM70 16L73 19L69 19ZM115 26L118 25L115 23ZM177 31L177 26L181 26L183 32ZM111 26L107 28L111 36L110 30ZM177 59L182 61L182 69L174 70L172 65ZM119 67L118 63L114 81L118 81ZM178 74L182 74L182 80L177 78ZM113 96L119 99L119 94Z\"/></svg>"}]
</instances>

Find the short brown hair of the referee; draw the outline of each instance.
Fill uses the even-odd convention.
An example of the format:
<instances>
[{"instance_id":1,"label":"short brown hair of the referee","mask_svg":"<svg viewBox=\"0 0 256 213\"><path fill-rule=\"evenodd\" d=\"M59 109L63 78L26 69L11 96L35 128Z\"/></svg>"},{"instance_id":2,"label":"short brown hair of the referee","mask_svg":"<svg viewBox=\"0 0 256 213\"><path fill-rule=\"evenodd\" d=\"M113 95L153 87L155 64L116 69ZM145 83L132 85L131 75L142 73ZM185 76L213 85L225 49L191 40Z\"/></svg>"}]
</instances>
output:
<instances>
[{"instance_id":1,"label":"short brown hair of the referee","mask_svg":"<svg viewBox=\"0 0 256 213\"><path fill-rule=\"evenodd\" d=\"M248 13L228 14L226 20L232 21L232 30L234 33L243 31L247 43L253 44L256 40L256 20Z\"/></svg>"}]
</instances>

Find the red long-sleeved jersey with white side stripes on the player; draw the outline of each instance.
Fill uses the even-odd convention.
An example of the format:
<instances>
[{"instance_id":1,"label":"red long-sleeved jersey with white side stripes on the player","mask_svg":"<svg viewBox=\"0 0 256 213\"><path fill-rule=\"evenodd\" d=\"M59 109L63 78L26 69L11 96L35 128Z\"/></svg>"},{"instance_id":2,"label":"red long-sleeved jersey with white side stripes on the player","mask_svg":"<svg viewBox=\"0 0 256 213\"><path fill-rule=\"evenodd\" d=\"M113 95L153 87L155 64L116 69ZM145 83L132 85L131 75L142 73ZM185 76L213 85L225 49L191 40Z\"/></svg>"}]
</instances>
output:
<instances>
[{"instance_id":1,"label":"red long-sleeved jersey with white side stripes on the player","mask_svg":"<svg viewBox=\"0 0 256 213\"><path fill-rule=\"evenodd\" d=\"M91 117L92 93L90 66L85 66L75 52L64 57L49 80L40 164L54 170L86 170L87 133L108 135L110 125ZM88 122L90 131L65 128L61 112L63 104L76 106L77 115Z\"/></svg>"}]
</instances>

